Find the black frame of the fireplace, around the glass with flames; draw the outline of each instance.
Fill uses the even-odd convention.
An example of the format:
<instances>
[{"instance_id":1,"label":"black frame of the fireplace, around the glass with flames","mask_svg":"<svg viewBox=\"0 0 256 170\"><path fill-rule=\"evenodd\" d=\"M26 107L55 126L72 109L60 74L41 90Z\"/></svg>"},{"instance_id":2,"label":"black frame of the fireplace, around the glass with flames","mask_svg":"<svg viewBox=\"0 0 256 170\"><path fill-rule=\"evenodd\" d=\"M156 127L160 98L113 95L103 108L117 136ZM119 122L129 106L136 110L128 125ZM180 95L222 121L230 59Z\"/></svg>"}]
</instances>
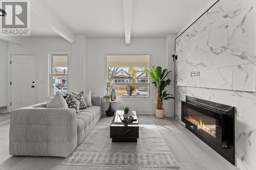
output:
<instances>
[{"instance_id":1,"label":"black frame of the fireplace, around the glass with flames","mask_svg":"<svg viewBox=\"0 0 256 170\"><path fill-rule=\"evenodd\" d=\"M218 133L216 137L212 137L207 132L200 130L184 117L184 108L195 110L218 120L221 131L216 132ZM186 96L186 102L181 101L181 120L189 131L234 164L234 107Z\"/></svg>"}]
</instances>

